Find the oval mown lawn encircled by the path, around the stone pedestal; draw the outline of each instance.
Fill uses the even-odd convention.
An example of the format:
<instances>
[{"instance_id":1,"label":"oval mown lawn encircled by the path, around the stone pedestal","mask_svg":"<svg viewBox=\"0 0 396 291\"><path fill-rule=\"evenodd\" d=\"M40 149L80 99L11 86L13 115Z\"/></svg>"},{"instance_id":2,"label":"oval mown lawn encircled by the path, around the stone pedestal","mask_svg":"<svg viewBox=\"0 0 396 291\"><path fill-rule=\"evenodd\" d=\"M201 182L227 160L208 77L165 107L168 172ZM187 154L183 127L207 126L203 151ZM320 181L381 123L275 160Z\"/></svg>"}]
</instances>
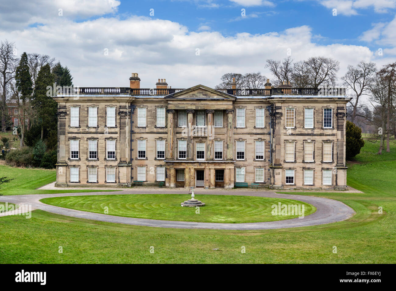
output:
<instances>
[{"instance_id":1,"label":"oval mown lawn encircled by the path, around the stone pedestal","mask_svg":"<svg viewBox=\"0 0 396 291\"><path fill-rule=\"evenodd\" d=\"M205 206L200 207L199 214L195 207L181 207L180 203L187 199L186 195L179 194L67 196L40 201L95 213L104 213L107 209L109 215L116 216L214 223L263 222L298 217L297 213L272 215L271 206L278 205L279 202L282 205L304 205L304 216L316 211L310 204L289 199L224 195L199 195L196 199L205 202Z\"/></svg>"}]
</instances>

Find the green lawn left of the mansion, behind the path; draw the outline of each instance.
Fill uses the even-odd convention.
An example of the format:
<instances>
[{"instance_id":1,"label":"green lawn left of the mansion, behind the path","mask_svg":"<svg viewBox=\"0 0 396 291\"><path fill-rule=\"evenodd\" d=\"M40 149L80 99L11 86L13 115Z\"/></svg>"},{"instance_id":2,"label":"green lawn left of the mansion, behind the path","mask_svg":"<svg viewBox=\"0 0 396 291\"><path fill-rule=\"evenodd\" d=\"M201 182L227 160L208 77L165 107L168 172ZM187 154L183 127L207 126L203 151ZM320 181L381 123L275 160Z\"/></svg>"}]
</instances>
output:
<instances>
[{"instance_id":1,"label":"green lawn left of the mansion, behind the path","mask_svg":"<svg viewBox=\"0 0 396 291\"><path fill-rule=\"evenodd\" d=\"M9 183L0 186L2 195L24 195L24 194L55 194L55 193L79 193L99 192L114 190L35 190L41 186L56 180L55 169L29 169L0 165L0 177L6 176L13 179ZM61 188L60 188L61 189ZM1 200L1 199L0 199Z\"/></svg>"}]
</instances>

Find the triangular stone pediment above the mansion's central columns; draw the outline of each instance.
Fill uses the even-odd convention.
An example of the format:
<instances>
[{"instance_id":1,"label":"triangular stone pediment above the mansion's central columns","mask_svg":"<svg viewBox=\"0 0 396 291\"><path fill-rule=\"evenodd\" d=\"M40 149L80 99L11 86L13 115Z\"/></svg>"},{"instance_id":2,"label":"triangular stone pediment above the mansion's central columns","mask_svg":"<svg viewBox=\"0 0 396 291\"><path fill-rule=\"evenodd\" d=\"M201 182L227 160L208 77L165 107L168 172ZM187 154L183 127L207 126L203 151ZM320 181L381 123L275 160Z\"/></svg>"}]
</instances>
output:
<instances>
[{"instance_id":1,"label":"triangular stone pediment above the mansion's central columns","mask_svg":"<svg viewBox=\"0 0 396 291\"><path fill-rule=\"evenodd\" d=\"M224 99L231 99L234 100L236 97L234 95L227 94L225 92L204 86L204 85L197 85L194 87L190 87L188 89L184 89L182 91L172 93L165 96L166 99L217 99L217 100L224 100Z\"/></svg>"}]
</instances>

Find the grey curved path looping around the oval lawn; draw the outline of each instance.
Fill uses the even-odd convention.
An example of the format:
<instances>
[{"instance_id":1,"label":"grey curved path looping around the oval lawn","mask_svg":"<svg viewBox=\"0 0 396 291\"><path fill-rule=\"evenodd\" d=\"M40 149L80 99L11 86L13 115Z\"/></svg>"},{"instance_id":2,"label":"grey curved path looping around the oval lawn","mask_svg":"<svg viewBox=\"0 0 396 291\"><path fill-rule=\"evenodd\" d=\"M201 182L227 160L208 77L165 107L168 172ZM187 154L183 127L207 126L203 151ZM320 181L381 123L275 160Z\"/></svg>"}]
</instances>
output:
<instances>
[{"instance_id":1,"label":"grey curved path looping around the oval lawn","mask_svg":"<svg viewBox=\"0 0 396 291\"><path fill-rule=\"evenodd\" d=\"M117 192L89 192L89 193L65 193L65 194L32 194L32 195L13 195L1 196L0 201L9 202L13 204L29 204L32 205L32 210L41 209L51 213L66 215L77 218L92 219L97 221L106 221L111 223L123 223L140 226L165 227L165 228L200 228L200 229L224 229L224 230L260 230L260 229L276 229L276 228L291 228L301 226L312 226L318 224L333 223L343 221L355 214L355 211L342 202L303 195L292 194L276 194L274 192L262 191L210 191L195 190L195 194L213 194L213 195L242 195L242 196L259 196L271 198L286 198L303 201L312 204L316 207L316 212L304 218L293 218L281 221L269 221L258 223L202 223L189 221L166 221L154 219L142 219L131 217L120 217L100 213L92 213L63 207L52 206L44 204L39 200L48 197L61 196L82 196L82 195L120 195L120 194L186 194L185 190L123 190ZM188 195L186 194L186 197ZM6 214L6 213L4 213ZM34 213L32 214L34 215Z\"/></svg>"}]
</instances>

